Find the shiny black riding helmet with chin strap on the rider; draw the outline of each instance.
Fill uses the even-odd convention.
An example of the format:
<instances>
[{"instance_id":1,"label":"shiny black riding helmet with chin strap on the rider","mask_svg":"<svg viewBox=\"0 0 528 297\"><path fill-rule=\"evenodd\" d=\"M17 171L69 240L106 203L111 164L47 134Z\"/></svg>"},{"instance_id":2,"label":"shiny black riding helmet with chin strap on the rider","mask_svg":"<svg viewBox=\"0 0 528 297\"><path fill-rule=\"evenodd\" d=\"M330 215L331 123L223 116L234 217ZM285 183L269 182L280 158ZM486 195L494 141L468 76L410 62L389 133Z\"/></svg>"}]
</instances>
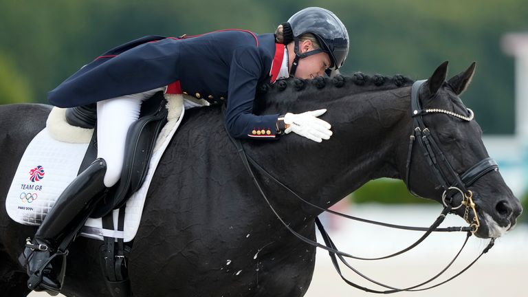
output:
<instances>
[{"instance_id":1,"label":"shiny black riding helmet with chin strap on the rider","mask_svg":"<svg viewBox=\"0 0 528 297\"><path fill-rule=\"evenodd\" d=\"M291 76L294 76L301 58L326 52L331 60L330 71L327 71L327 74L330 75L332 70L342 67L349 54L349 32L347 32L347 28L336 17L336 14L324 8L311 7L300 10L289 18L287 23L283 23L283 28L285 44L292 40L295 41L295 59L289 72ZM305 33L314 34L321 48L300 54L299 36ZM291 35L288 36L289 34Z\"/></svg>"}]
</instances>

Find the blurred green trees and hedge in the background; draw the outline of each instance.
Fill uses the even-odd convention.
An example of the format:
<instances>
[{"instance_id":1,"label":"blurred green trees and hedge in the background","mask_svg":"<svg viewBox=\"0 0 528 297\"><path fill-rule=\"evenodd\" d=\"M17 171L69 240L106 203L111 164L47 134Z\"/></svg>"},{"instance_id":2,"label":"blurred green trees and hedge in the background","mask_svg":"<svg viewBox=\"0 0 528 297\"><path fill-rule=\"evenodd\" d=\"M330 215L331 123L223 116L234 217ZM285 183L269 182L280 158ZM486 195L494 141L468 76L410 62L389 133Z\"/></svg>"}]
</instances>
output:
<instances>
[{"instance_id":1,"label":"blurred green trees and hedge in the background","mask_svg":"<svg viewBox=\"0 0 528 297\"><path fill-rule=\"evenodd\" d=\"M46 102L47 91L98 54L140 36L223 28L274 32L307 6L327 8L347 26L351 50L344 74L422 79L443 61L450 61L450 76L476 61L476 76L462 96L465 104L484 133L514 132L514 58L502 52L500 40L507 32L528 30L525 0L4 0L0 103ZM422 201L406 195L401 182L376 182L358 190L355 199Z\"/></svg>"}]
</instances>

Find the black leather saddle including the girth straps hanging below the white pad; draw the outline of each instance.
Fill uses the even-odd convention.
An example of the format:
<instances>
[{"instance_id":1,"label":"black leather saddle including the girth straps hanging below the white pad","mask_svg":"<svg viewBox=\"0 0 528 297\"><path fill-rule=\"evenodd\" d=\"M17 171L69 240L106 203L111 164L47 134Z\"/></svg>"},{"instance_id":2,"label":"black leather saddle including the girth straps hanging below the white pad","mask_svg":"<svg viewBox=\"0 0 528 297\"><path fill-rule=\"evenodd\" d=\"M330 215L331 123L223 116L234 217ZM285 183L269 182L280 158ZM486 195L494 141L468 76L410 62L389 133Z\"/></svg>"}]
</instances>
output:
<instances>
[{"instance_id":1,"label":"black leather saddle including the girth straps hanging below the white pad","mask_svg":"<svg viewBox=\"0 0 528 297\"><path fill-rule=\"evenodd\" d=\"M168 111L163 92L159 91L142 104L140 118L134 122L126 134L124 164L121 178L102 197L92 218L102 217L104 228L114 229L112 210L119 208L118 230L124 230L124 203L133 192L137 191L146 177L148 163L151 159L154 144L162 127L167 122ZM81 173L97 157L97 105L89 104L66 110L66 121L72 126L84 129L94 129L89 146L80 164ZM100 267L104 281L111 296L131 296L130 280L126 259L131 252L131 245L126 245L123 239L104 236L100 246Z\"/></svg>"}]
</instances>

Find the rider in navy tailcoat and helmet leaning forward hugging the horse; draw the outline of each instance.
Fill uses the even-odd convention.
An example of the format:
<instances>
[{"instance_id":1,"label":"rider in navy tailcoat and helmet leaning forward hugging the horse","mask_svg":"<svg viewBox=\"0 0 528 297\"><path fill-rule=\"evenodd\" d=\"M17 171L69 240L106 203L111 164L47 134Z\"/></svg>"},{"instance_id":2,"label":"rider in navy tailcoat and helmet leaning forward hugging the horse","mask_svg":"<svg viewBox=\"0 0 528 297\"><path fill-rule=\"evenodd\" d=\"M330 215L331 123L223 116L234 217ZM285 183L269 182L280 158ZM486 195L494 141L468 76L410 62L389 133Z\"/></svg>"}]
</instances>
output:
<instances>
[{"instance_id":1,"label":"rider in navy tailcoat and helmet leaning forward hugging the horse","mask_svg":"<svg viewBox=\"0 0 528 297\"><path fill-rule=\"evenodd\" d=\"M60 254L59 245L71 243L70 235L85 223L94 201L120 178L126 133L143 100L165 91L210 104L225 101L233 137L272 140L293 131L321 142L332 134L330 124L318 118L326 109L254 115L256 86L288 76L330 74L343 65L348 51L349 35L340 19L323 8L305 8L275 34L220 30L177 39L145 36L115 47L67 78L48 99L57 107L97 102L98 159L64 190L33 241L28 239L20 258L30 276L28 287L60 291L51 259Z\"/></svg>"}]
</instances>

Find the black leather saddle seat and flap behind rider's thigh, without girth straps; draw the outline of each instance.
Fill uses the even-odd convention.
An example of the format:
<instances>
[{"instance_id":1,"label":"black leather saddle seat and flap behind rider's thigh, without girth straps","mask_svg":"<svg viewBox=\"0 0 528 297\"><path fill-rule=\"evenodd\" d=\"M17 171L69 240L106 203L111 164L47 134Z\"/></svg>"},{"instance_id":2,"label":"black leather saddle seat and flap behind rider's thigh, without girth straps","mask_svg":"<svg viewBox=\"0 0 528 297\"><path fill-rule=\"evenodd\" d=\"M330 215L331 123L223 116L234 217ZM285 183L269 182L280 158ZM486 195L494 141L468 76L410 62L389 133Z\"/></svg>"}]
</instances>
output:
<instances>
[{"instance_id":1,"label":"black leather saddle seat and flap behind rider's thigh, without girth straps","mask_svg":"<svg viewBox=\"0 0 528 297\"><path fill-rule=\"evenodd\" d=\"M141 187L146 177L157 135L167 122L167 113L166 100L162 91L142 103L140 118L131 125L126 134L124 164L120 181L109 189L90 217L104 217L111 210L120 208L126 199ZM66 121L73 126L96 129L96 103L67 109ZM79 173L83 172L96 157L97 131L94 130Z\"/></svg>"}]
</instances>

